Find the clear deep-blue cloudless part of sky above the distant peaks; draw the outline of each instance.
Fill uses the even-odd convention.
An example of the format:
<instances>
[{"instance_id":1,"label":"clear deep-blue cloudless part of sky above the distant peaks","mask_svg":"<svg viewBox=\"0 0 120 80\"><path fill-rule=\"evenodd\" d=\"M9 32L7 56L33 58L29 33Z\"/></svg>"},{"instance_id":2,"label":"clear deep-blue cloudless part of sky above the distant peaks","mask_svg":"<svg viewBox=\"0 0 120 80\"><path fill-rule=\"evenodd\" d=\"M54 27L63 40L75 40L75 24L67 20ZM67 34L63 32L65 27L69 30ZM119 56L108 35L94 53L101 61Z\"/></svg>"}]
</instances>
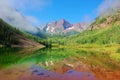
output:
<instances>
[{"instance_id":1,"label":"clear deep-blue cloudless part of sky above the distant peaks","mask_svg":"<svg viewBox=\"0 0 120 80\"><path fill-rule=\"evenodd\" d=\"M63 18L76 23L86 19L94 20L96 9L102 2L103 0L51 0L50 4L41 6L42 9L28 9L23 13L35 16L40 24Z\"/></svg>"}]
</instances>

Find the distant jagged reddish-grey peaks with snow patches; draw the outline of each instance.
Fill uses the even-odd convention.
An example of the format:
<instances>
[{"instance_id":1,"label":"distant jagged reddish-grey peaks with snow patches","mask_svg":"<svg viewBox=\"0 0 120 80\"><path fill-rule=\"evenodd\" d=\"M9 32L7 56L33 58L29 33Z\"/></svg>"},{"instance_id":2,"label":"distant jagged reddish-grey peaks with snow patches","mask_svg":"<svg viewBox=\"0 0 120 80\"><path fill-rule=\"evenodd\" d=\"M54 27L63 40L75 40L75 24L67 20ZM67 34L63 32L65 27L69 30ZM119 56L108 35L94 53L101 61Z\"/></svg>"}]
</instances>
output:
<instances>
[{"instance_id":1,"label":"distant jagged reddish-grey peaks with snow patches","mask_svg":"<svg viewBox=\"0 0 120 80\"><path fill-rule=\"evenodd\" d=\"M75 23L71 24L65 19L60 21L53 21L47 24L41 25L40 30L48 34L68 34L68 33L78 33L87 28L86 23Z\"/></svg>"}]
</instances>

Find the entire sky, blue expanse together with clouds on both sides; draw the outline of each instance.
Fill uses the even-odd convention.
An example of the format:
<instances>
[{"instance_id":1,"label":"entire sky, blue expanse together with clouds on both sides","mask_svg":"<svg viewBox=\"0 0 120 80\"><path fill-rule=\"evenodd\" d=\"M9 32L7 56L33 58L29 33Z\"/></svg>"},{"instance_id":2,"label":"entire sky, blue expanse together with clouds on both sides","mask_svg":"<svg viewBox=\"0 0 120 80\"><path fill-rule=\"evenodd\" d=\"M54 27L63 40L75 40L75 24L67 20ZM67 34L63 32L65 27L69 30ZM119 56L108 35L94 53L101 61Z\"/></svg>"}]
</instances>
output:
<instances>
[{"instance_id":1,"label":"entire sky, blue expanse together with clouds on both sides","mask_svg":"<svg viewBox=\"0 0 120 80\"><path fill-rule=\"evenodd\" d=\"M43 23L61 19L73 24L90 22L118 8L120 0L0 0L0 18L19 29L36 32L35 27Z\"/></svg>"}]
</instances>

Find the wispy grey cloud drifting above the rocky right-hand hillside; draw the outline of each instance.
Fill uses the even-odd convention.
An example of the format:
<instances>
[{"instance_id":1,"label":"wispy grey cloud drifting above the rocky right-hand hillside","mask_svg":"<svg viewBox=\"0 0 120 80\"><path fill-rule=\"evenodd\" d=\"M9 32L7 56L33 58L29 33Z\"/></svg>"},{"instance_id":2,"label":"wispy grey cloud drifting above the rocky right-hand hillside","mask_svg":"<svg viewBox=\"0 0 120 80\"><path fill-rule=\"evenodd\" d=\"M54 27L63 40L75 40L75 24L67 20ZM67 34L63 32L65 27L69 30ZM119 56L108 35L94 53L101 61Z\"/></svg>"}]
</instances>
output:
<instances>
[{"instance_id":1,"label":"wispy grey cloud drifting above the rocky right-hand hillside","mask_svg":"<svg viewBox=\"0 0 120 80\"><path fill-rule=\"evenodd\" d=\"M92 13L83 17L84 22L86 22L89 26L95 20L93 15L95 17L111 15L118 9L120 9L120 0L103 0L103 2L98 5L98 7L93 10Z\"/></svg>"}]
</instances>

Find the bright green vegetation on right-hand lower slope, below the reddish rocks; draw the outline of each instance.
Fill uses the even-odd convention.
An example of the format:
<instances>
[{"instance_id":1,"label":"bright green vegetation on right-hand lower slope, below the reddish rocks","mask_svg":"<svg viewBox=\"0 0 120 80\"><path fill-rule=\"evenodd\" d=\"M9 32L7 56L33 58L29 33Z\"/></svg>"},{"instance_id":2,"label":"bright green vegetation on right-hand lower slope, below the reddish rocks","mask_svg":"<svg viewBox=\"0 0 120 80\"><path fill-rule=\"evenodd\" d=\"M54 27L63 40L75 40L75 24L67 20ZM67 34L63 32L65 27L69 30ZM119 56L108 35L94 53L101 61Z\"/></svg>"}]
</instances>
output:
<instances>
[{"instance_id":1,"label":"bright green vegetation on right-hand lower slope, below the reddish rocks","mask_svg":"<svg viewBox=\"0 0 120 80\"><path fill-rule=\"evenodd\" d=\"M58 45L120 44L120 26L114 24L110 28L100 30L86 30L78 35L63 38L48 38L47 42Z\"/></svg>"}]
</instances>

